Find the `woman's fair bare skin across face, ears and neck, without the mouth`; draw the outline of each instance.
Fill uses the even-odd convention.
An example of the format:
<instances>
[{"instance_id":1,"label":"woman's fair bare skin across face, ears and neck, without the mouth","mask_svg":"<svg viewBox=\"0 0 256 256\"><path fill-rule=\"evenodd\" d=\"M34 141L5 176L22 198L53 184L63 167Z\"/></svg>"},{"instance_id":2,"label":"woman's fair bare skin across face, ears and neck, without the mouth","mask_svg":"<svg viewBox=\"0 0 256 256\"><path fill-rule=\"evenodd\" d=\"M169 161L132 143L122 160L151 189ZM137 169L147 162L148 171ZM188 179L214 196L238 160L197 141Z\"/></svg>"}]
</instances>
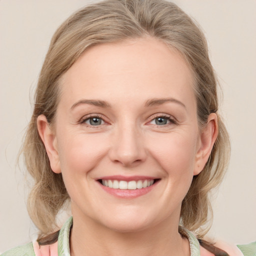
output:
<instances>
[{"instance_id":1,"label":"woman's fair bare skin across face, ears and neck, without the mouth","mask_svg":"<svg viewBox=\"0 0 256 256\"><path fill-rule=\"evenodd\" d=\"M71 255L190 254L178 233L181 202L217 135L214 113L198 128L192 83L183 58L150 37L93 46L62 76L54 125L43 115L37 125L71 198ZM102 189L106 175L159 181L127 199Z\"/></svg>"}]
</instances>

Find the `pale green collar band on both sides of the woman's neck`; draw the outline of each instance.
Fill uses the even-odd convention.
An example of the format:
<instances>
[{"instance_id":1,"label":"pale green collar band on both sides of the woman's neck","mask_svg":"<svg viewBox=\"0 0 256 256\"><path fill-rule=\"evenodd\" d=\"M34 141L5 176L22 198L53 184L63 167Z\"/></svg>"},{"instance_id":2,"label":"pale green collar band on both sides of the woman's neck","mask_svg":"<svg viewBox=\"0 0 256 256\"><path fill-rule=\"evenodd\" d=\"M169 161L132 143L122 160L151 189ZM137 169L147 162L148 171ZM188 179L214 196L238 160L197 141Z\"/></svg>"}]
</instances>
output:
<instances>
[{"instance_id":1,"label":"pale green collar band on both sides of the woman's neck","mask_svg":"<svg viewBox=\"0 0 256 256\"><path fill-rule=\"evenodd\" d=\"M70 256L69 236L73 224L73 217L69 217L59 230L58 235L58 255ZM196 237L183 226L178 227L178 232L189 241L190 256L200 256L200 245Z\"/></svg>"}]
</instances>

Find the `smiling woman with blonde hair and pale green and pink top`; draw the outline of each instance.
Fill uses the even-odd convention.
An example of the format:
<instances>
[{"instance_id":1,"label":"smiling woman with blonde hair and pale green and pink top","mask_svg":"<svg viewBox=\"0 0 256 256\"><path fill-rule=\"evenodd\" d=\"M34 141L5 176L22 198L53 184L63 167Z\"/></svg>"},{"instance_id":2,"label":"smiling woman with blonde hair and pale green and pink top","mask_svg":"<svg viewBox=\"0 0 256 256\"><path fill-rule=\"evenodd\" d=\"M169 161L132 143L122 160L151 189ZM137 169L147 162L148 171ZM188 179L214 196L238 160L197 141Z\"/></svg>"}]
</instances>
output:
<instances>
[{"instance_id":1,"label":"smiling woman with blonde hair and pale green and pink top","mask_svg":"<svg viewBox=\"0 0 256 256\"><path fill-rule=\"evenodd\" d=\"M202 240L229 141L203 34L172 3L103 1L58 28L23 153L41 234L3 255L247 255L253 246ZM53 232L68 201L72 217Z\"/></svg>"}]
</instances>

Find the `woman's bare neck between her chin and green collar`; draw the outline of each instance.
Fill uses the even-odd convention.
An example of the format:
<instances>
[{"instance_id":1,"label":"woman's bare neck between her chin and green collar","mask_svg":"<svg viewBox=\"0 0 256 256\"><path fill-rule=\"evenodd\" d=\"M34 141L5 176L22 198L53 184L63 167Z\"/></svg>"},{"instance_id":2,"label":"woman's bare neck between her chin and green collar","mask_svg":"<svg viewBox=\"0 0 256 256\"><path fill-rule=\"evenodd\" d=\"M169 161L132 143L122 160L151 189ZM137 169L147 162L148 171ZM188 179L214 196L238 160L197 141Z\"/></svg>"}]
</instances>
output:
<instances>
[{"instance_id":1,"label":"woman's bare neck between her chin and green collar","mask_svg":"<svg viewBox=\"0 0 256 256\"><path fill-rule=\"evenodd\" d=\"M178 233L178 221L169 219L139 231L119 232L89 217L73 214L71 256L171 256L190 255L189 243Z\"/></svg>"}]
</instances>

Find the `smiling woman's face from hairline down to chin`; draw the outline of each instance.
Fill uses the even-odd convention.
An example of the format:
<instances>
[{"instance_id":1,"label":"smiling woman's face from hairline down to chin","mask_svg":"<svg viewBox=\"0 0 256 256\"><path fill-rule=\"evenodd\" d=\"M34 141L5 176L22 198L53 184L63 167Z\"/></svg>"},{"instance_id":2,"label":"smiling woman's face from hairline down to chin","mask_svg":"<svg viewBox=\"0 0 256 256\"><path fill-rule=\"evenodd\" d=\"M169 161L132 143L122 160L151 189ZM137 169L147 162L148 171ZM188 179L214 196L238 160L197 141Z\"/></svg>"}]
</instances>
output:
<instances>
[{"instance_id":1,"label":"smiling woman's face from hairline down to chin","mask_svg":"<svg viewBox=\"0 0 256 256\"><path fill-rule=\"evenodd\" d=\"M93 46L67 70L48 154L73 216L120 231L178 223L203 167L192 82L153 38Z\"/></svg>"}]
</instances>

